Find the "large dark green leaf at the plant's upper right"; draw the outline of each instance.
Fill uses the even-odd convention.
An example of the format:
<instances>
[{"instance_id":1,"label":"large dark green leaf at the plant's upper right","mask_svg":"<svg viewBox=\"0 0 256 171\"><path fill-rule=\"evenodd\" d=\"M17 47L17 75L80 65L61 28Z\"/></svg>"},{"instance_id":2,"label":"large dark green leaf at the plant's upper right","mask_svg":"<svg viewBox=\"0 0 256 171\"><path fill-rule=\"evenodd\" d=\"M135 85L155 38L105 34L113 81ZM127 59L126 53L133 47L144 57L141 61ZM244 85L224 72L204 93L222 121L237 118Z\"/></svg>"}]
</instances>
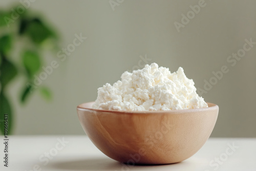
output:
<instances>
[{"instance_id":1,"label":"large dark green leaf at the plant's upper right","mask_svg":"<svg viewBox=\"0 0 256 171\"><path fill-rule=\"evenodd\" d=\"M36 44L41 44L47 38L55 37L53 31L42 23L39 18L32 19L25 32Z\"/></svg>"}]
</instances>

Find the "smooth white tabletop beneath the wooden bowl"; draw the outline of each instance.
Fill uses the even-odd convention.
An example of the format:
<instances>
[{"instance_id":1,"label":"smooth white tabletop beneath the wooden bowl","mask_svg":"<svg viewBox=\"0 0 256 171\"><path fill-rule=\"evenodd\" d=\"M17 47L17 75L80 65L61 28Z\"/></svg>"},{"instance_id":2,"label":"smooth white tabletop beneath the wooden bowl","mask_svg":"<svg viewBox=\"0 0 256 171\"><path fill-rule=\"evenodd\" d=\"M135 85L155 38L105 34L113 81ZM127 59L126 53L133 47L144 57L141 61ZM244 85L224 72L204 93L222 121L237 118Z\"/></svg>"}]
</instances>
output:
<instances>
[{"instance_id":1,"label":"smooth white tabletop beneath the wooden bowl","mask_svg":"<svg viewBox=\"0 0 256 171\"><path fill-rule=\"evenodd\" d=\"M61 145L58 138L69 143ZM232 150L228 144L236 148ZM198 153L183 162L153 166L127 166L112 160L85 135L9 136L9 167L3 166L3 143L0 152L0 170L256 170L256 138L210 138ZM215 161L218 158L219 163Z\"/></svg>"}]
</instances>

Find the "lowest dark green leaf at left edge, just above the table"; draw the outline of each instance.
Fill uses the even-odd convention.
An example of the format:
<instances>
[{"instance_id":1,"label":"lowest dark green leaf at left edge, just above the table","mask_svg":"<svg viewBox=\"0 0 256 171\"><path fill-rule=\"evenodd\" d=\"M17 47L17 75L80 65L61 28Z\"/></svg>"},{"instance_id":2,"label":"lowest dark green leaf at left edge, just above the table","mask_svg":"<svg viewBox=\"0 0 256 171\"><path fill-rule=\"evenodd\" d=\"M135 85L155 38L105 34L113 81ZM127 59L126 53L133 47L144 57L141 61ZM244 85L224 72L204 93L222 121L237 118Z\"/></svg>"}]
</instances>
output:
<instances>
[{"instance_id":1,"label":"lowest dark green leaf at left edge, just above the table","mask_svg":"<svg viewBox=\"0 0 256 171\"><path fill-rule=\"evenodd\" d=\"M12 113L11 106L4 93L0 93L0 127L1 133L4 134L5 130L5 114L8 114L8 135L12 131Z\"/></svg>"}]
</instances>

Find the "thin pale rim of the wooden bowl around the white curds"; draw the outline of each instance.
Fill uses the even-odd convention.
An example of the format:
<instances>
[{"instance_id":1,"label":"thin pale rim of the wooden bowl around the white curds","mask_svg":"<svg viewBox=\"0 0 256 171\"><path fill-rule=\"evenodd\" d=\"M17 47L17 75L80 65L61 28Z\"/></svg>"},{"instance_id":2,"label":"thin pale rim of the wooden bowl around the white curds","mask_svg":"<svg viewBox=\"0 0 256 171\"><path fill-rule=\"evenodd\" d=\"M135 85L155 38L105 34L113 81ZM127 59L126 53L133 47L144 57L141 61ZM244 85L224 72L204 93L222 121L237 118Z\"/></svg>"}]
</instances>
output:
<instances>
[{"instance_id":1,"label":"thin pale rim of the wooden bowl around the white curds","mask_svg":"<svg viewBox=\"0 0 256 171\"><path fill-rule=\"evenodd\" d=\"M81 111L94 111L94 112L101 112L101 113L116 113L116 114L181 114L181 113L194 113L194 112L202 112L202 111L212 111L212 110L219 110L219 106L214 103L209 103L207 108L197 108L197 109L182 109L182 110L170 110L170 111L114 111L114 110L101 110L101 109L93 109L93 108L84 108L82 105L93 103L95 101L90 101L86 103L81 103L77 106L77 110Z\"/></svg>"}]
</instances>

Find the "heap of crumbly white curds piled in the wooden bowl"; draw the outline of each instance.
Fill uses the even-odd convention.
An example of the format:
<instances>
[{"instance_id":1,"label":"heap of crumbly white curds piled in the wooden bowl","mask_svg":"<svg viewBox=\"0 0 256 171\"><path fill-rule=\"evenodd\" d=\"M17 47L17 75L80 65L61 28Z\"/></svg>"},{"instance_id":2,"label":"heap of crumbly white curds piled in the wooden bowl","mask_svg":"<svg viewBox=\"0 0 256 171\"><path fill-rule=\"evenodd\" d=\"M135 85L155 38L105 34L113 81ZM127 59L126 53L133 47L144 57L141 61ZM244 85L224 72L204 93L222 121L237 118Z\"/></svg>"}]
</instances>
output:
<instances>
[{"instance_id":1,"label":"heap of crumbly white curds piled in the wooden bowl","mask_svg":"<svg viewBox=\"0 0 256 171\"><path fill-rule=\"evenodd\" d=\"M168 111L207 108L196 93L194 81L188 79L183 68L170 73L157 63L142 70L124 72L121 81L98 89L94 109L116 111Z\"/></svg>"}]
</instances>

